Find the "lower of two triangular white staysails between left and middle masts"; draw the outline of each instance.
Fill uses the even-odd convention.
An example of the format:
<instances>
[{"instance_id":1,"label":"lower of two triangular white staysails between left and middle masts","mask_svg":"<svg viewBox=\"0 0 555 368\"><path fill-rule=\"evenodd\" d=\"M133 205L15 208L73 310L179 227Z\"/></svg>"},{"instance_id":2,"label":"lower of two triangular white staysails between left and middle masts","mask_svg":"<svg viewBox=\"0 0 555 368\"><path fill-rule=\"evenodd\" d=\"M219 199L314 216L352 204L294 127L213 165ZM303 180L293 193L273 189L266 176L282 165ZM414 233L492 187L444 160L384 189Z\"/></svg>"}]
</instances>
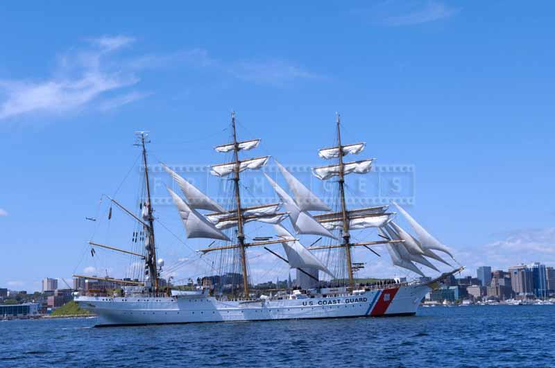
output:
<instances>
[{"instance_id":1,"label":"lower of two triangular white staysails between left and middle masts","mask_svg":"<svg viewBox=\"0 0 555 368\"><path fill-rule=\"evenodd\" d=\"M187 203L180 198L179 195L174 193L168 188L168 191L173 198L173 203L179 211L179 216L187 230L187 238L208 238L217 240L230 240L219 229L216 229L210 221L206 220L204 216L198 213L195 209L189 207Z\"/></svg>"}]
</instances>

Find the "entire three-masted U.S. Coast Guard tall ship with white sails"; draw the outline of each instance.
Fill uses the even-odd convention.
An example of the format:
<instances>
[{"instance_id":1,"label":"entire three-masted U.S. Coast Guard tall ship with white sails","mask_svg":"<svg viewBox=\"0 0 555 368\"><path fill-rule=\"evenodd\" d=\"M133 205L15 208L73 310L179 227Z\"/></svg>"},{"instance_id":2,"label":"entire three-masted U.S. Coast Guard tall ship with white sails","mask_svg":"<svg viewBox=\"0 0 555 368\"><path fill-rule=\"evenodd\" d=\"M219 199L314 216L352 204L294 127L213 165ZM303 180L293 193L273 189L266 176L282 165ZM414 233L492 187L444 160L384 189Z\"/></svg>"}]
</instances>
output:
<instances>
[{"instance_id":1,"label":"entire three-masted U.S. Coast Guard tall ship with white sails","mask_svg":"<svg viewBox=\"0 0 555 368\"><path fill-rule=\"evenodd\" d=\"M210 173L222 181L223 200L213 200L187 177L180 176L178 170L162 164L173 182L173 189L167 187L167 191L185 227L186 238L206 240L207 245L197 251L199 261L207 262L206 258L212 257L211 274L186 286L174 285L168 276L171 272L167 272L171 266L166 268L157 254L155 227L159 229L159 221L154 215L146 149L150 141L146 132L136 135L143 168L136 208L129 209L105 196L110 203L108 219L114 208L133 221L131 245L116 247L96 240L88 244L92 257L103 249L134 258L137 276L117 279L110 277L108 271L105 277L74 275L114 286L108 291L87 288L76 292L74 299L79 306L98 316L96 326L414 315L427 292L463 269L451 264L456 261L450 249L399 204L393 202L398 213L388 211L388 205L348 207L345 180L349 175L370 173L374 159L345 160L346 156L360 154L366 143L343 143L339 115L334 146L318 150L319 157L330 164L311 169L314 177L332 186L332 198L322 200L274 160L275 175L268 175L271 170L265 170L263 175L279 200L261 203L241 179L246 170L264 168L271 157L242 157L244 152L257 148L261 140L240 140L232 113L230 141L215 147L229 160L210 168ZM278 176L289 190L278 184ZM246 201L248 194L251 198ZM411 232L395 222L399 215L407 220ZM254 226L256 232L251 230ZM266 234L259 236L260 229ZM373 230L372 234L365 235L368 229ZM312 240L311 244L304 245L305 240ZM364 263L355 260L355 249L381 256L376 247L385 247L393 265L418 277L357 278ZM264 249L276 261L287 263L288 270L297 270L302 282L297 286L288 282L281 288L279 283L275 288L257 288L249 262L254 249ZM450 260L445 261L443 254ZM449 270L441 273L432 261L443 263ZM422 266L436 272L436 277L426 277Z\"/></svg>"}]
</instances>

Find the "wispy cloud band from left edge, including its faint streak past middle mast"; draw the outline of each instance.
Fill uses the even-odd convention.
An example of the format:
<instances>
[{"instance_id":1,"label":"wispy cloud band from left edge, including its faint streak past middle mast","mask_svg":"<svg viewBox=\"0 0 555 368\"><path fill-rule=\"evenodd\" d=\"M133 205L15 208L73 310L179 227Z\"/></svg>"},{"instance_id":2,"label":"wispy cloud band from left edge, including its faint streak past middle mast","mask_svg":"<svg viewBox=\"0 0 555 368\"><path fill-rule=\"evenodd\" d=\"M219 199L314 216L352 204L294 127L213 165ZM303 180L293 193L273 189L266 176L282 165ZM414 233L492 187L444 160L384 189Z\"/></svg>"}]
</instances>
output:
<instances>
[{"instance_id":1,"label":"wispy cloud band from left edge, including its faint streak past middle mast","mask_svg":"<svg viewBox=\"0 0 555 368\"><path fill-rule=\"evenodd\" d=\"M261 85L282 86L296 80L321 78L286 60L224 61L212 58L205 49L126 60L115 57L117 51L133 42L133 37L123 35L89 39L86 45L58 55L51 76L0 80L0 120L29 114L79 112L93 102L103 112L116 109L149 95L124 90L137 85L139 71L170 65L207 68Z\"/></svg>"}]
</instances>

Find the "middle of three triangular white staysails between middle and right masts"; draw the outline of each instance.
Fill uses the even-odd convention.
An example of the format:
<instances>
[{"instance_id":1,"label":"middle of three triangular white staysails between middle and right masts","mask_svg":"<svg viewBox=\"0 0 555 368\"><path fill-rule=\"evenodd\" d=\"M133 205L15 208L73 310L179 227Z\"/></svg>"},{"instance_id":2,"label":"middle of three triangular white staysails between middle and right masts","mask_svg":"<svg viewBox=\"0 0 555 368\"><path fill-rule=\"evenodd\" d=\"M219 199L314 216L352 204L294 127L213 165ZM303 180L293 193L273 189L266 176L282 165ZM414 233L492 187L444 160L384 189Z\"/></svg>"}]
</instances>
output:
<instances>
[{"instance_id":1,"label":"middle of three triangular white staysails between middle and right masts","mask_svg":"<svg viewBox=\"0 0 555 368\"><path fill-rule=\"evenodd\" d=\"M277 193L278 197L282 200L285 210L289 213L291 225L293 225L293 229L295 229L297 234L327 236L328 238L335 239L335 236L319 224L318 221L314 220L310 213L307 211L300 211L293 198L291 198L291 196L287 194L287 192L284 191L278 183L274 182L273 179L271 179L271 177L269 177L266 173L264 173L264 176L268 179L268 182L270 182L271 186L273 186L275 193Z\"/></svg>"}]
</instances>

